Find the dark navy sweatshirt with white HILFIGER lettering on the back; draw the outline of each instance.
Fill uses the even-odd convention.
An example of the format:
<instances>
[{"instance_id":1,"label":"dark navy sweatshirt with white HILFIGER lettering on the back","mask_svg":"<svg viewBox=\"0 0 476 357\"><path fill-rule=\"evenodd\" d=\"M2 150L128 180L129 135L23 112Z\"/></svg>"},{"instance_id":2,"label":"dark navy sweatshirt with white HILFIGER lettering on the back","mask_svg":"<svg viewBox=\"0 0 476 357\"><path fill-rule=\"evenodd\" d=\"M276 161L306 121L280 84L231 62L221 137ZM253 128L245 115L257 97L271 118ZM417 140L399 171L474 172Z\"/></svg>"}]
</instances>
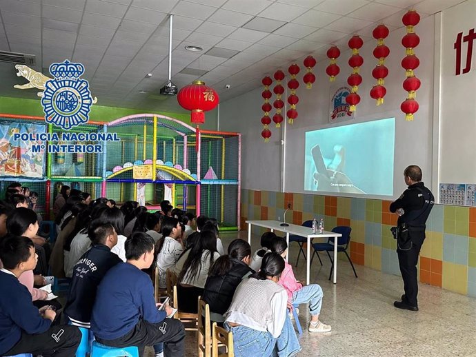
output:
<instances>
[{"instance_id":1,"label":"dark navy sweatshirt with white HILFIGER lettering on the back","mask_svg":"<svg viewBox=\"0 0 476 357\"><path fill-rule=\"evenodd\" d=\"M103 244L93 245L81 256L72 272L70 292L65 307L65 313L72 320L73 325L88 327L92 305L96 300L97 286L108 270L121 262L121 258Z\"/></svg>"}]
</instances>

